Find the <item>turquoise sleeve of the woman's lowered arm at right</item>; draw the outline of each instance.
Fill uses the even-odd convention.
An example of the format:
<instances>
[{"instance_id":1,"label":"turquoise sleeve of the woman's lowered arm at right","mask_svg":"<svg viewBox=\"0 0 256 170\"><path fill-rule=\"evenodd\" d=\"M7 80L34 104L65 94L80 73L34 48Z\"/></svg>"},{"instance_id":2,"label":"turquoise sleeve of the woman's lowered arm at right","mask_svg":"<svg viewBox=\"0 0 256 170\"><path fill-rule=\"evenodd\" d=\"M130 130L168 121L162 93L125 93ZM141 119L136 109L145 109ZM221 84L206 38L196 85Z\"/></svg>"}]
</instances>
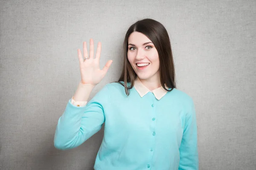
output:
<instances>
[{"instance_id":1,"label":"turquoise sleeve of the woman's lowered arm at right","mask_svg":"<svg viewBox=\"0 0 256 170\"><path fill-rule=\"evenodd\" d=\"M179 170L198 170L197 123L193 101L190 111L186 115L186 123L180 144Z\"/></svg>"}]
</instances>

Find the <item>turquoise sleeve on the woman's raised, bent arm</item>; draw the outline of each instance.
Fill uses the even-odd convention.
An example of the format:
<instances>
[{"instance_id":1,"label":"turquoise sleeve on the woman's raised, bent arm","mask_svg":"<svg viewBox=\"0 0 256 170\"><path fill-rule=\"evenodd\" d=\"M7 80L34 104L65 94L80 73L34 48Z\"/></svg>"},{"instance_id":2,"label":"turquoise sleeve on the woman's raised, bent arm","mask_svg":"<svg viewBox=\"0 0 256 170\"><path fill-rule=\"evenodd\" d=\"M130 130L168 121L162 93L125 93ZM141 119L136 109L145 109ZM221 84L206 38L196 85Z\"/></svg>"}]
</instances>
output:
<instances>
[{"instance_id":1,"label":"turquoise sleeve on the woman's raised, bent arm","mask_svg":"<svg viewBox=\"0 0 256 170\"><path fill-rule=\"evenodd\" d=\"M58 119L54 136L55 148L68 150L78 147L97 133L105 122L105 110L109 104L107 85L83 107L73 105L70 99Z\"/></svg>"}]
</instances>

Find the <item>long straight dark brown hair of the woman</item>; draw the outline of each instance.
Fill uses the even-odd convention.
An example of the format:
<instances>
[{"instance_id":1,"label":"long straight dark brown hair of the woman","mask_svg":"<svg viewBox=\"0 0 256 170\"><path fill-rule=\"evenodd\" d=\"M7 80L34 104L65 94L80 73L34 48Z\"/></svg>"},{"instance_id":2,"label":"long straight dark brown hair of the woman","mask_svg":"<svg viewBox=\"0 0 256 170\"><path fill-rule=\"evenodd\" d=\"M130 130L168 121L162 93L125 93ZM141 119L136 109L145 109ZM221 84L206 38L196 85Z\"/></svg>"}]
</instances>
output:
<instances>
[{"instance_id":1,"label":"long straight dark brown hair of the woman","mask_svg":"<svg viewBox=\"0 0 256 170\"><path fill-rule=\"evenodd\" d=\"M169 35L166 31L166 28L156 20L153 19L143 19L138 20L136 23L130 26L125 35L125 40L123 43L124 48L124 65L122 69L122 74L117 81L125 87L125 93L128 96L130 94L130 89L134 86L134 80L137 77L134 69L131 67L131 63L127 58L128 51L128 37L134 31L140 32L148 37L151 40L157 49L159 61L160 61L160 81L162 87L166 91L172 91L173 88L176 88L175 84L175 68L172 57L172 48L169 40ZM124 84L122 83L124 82ZM131 82L131 85L128 87L127 82ZM165 84L171 88L171 90L166 89Z\"/></svg>"}]
</instances>

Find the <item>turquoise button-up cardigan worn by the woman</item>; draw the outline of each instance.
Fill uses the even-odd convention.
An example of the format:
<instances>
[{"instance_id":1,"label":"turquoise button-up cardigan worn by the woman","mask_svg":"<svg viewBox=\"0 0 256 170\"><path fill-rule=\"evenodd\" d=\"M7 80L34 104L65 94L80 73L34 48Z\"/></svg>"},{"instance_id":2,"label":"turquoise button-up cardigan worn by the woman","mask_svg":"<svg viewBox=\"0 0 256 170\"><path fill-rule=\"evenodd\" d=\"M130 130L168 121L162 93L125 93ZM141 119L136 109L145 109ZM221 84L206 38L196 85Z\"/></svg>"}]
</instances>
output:
<instances>
[{"instance_id":1,"label":"turquoise button-up cardigan worn by the woman","mask_svg":"<svg viewBox=\"0 0 256 170\"><path fill-rule=\"evenodd\" d=\"M158 100L108 83L83 107L68 101L54 146L78 147L104 122L95 170L198 170L195 106L186 93L174 88Z\"/></svg>"}]
</instances>

